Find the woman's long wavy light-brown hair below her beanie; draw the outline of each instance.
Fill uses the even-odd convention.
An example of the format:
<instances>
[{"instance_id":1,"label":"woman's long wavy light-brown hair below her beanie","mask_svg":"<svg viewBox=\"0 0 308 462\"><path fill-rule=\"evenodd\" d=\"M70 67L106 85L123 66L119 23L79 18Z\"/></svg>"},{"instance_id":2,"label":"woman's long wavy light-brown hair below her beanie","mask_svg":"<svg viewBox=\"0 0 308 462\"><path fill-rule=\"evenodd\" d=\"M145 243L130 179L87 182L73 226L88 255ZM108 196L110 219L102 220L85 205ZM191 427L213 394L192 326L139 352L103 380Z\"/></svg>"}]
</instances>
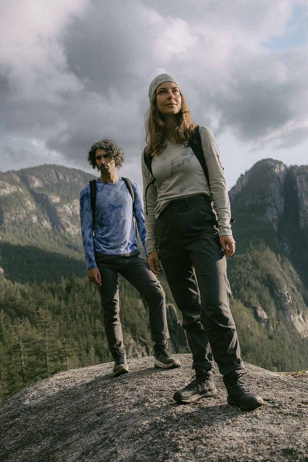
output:
<instances>
[{"instance_id":1,"label":"woman's long wavy light-brown hair below her beanie","mask_svg":"<svg viewBox=\"0 0 308 462\"><path fill-rule=\"evenodd\" d=\"M181 92L180 95L182 98L181 110L177 114L177 120L173 126L172 132L168 134L168 140L172 140L175 144L181 144L189 140L193 129L196 127L184 95L182 95ZM166 124L157 108L156 94L154 94L145 122L145 141L147 145L145 152L152 156L154 154L159 154L166 146L163 145L163 139L166 135Z\"/></svg>"}]
</instances>

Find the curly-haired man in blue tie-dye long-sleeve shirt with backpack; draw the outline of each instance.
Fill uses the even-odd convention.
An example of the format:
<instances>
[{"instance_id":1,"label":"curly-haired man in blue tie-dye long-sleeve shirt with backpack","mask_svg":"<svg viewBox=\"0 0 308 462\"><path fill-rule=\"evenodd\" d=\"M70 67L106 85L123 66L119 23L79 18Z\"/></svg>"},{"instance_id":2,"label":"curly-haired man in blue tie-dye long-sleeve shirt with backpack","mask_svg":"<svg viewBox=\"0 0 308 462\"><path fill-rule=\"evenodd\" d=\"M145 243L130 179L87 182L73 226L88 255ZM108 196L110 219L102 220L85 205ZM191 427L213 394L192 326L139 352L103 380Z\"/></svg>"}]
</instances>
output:
<instances>
[{"instance_id":1,"label":"curly-haired man in blue tie-dye long-sleeve shirt with backpack","mask_svg":"<svg viewBox=\"0 0 308 462\"><path fill-rule=\"evenodd\" d=\"M137 183L118 176L123 151L105 138L91 146L87 158L101 175L95 180L96 207L92 219L90 184L80 192L80 220L89 280L98 286L114 377L128 372L119 316L118 273L146 299L155 352L155 367L171 369L181 363L172 358L168 341L165 294L156 276L139 256L135 223L145 248L143 200ZM128 180L129 181L129 180ZM129 190L133 189L134 201ZM133 216L134 215L134 216ZM134 221L135 219L135 221ZM94 226L93 226L94 225ZM93 235L94 234L94 235Z\"/></svg>"}]
</instances>

